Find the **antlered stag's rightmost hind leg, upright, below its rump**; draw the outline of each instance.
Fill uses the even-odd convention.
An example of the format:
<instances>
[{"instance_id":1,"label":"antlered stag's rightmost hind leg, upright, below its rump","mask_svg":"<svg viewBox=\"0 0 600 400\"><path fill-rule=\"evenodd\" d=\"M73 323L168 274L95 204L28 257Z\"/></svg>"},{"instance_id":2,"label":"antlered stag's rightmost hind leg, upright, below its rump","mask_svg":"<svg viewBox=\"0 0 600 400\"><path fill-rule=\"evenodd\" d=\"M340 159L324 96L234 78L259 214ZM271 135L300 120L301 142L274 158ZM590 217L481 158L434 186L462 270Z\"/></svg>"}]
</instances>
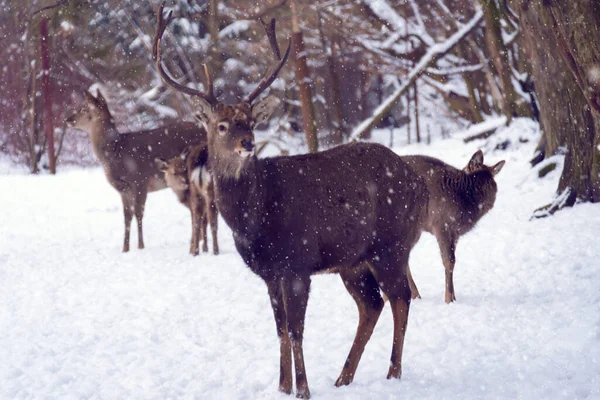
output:
<instances>
[{"instance_id":1,"label":"antlered stag's rightmost hind leg, upright, below its rump","mask_svg":"<svg viewBox=\"0 0 600 400\"><path fill-rule=\"evenodd\" d=\"M387 378L400 379L402 376L402 350L411 300L407 276L410 252L401 249L400 246L396 246L392 253L387 251L388 249L385 249L378 254L378 257L374 257L371 268L379 287L390 301L394 317L394 341Z\"/></svg>"}]
</instances>

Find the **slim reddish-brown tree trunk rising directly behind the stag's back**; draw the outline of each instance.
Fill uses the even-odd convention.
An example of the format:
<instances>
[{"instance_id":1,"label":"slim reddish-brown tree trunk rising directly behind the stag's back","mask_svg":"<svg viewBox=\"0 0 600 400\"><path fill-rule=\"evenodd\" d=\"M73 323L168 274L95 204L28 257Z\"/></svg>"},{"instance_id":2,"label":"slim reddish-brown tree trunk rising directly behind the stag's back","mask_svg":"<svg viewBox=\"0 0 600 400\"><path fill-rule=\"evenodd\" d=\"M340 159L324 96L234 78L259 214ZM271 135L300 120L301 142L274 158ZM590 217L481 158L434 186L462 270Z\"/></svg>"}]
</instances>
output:
<instances>
[{"instance_id":1,"label":"slim reddish-brown tree trunk rising directly behind the stag's back","mask_svg":"<svg viewBox=\"0 0 600 400\"><path fill-rule=\"evenodd\" d=\"M292 54L294 56L294 64L296 65L296 84L300 95L300 103L302 108L302 121L304 133L306 135L306 143L308 151L316 153L319 148L317 138L317 127L315 125L315 114L312 104L312 91L310 90L310 71L306 64L306 54L304 53L304 40L302 38L302 30L298 21L298 12L296 9L296 1L292 0Z\"/></svg>"}]
</instances>

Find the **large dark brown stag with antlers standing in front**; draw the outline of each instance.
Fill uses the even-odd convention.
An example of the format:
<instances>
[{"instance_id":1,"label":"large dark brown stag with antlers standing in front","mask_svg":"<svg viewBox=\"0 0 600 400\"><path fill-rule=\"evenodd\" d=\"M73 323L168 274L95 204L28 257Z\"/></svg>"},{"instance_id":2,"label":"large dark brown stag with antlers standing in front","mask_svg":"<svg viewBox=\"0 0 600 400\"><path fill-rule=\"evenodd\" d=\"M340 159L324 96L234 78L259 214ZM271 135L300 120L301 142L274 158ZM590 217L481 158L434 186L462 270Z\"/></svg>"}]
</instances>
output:
<instances>
[{"instance_id":1,"label":"large dark brown stag with antlers standing in front","mask_svg":"<svg viewBox=\"0 0 600 400\"><path fill-rule=\"evenodd\" d=\"M315 154L258 159L255 125L267 121L279 100L255 101L276 78L280 57L274 21L265 26L278 62L238 104L219 102L208 69L207 91L177 83L163 69L160 38L171 20L158 12L154 58L163 80L193 96L194 114L208 133L209 164L219 212L236 248L260 276L271 299L280 341L279 390L310 396L302 350L311 275L339 273L359 311L356 337L336 386L352 382L381 313L385 293L394 318L388 378L400 378L410 305L410 250L427 217L422 178L384 146L353 143Z\"/></svg>"}]
</instances>

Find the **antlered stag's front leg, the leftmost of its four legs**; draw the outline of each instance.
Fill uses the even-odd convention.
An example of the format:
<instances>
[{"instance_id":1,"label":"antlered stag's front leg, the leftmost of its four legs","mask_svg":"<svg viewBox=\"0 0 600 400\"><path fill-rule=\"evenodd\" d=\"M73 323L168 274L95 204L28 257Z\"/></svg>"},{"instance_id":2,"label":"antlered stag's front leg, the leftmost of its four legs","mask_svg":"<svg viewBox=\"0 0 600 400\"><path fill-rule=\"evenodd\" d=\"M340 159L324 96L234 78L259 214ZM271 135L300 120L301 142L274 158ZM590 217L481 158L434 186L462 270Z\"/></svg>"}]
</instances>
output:
<instances>
[{"instance_id":1,"label":"antlered stag's front leg, the leftmost of its four legs","mask_svg":"<svg viewBox=\"0 0 600 400\"><path fill-rule=\"evenodd\" d=\"M273 316L277 326L277 336L279 337L279 391L283 393L292 393L292 343L287 332L287 318L285 314L285 304L279 281L267 283Z\"/></svg>"}]
</instances>

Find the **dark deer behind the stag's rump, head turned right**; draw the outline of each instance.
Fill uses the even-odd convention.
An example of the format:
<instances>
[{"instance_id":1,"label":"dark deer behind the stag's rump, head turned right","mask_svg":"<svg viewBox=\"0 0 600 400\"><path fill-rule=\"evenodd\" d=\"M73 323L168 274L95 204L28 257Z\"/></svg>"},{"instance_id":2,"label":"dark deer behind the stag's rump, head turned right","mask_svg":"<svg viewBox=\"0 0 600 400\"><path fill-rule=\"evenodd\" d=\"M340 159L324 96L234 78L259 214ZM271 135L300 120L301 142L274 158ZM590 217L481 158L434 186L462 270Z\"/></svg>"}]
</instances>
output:
<instances>
[{"instance_id":1,"label":"dark deer behind the stag's rump, head turned right","mask_svg":"<svg viewBox=\"0 0 600 400\"><path fill-rule=\"evenodd\" d=\"M483 164L483 153L479 150L461 171L436 158L407 156L402 159L427 182L429 214L425 230L436 237L440 247L446 270L445 301L450 303L456 300L452 280L456 243L494 206L497 191L494 176L504 161L488 167ZM410 270L408 279L412 298L420 298Z\"/></svg>"}]
</instances>

